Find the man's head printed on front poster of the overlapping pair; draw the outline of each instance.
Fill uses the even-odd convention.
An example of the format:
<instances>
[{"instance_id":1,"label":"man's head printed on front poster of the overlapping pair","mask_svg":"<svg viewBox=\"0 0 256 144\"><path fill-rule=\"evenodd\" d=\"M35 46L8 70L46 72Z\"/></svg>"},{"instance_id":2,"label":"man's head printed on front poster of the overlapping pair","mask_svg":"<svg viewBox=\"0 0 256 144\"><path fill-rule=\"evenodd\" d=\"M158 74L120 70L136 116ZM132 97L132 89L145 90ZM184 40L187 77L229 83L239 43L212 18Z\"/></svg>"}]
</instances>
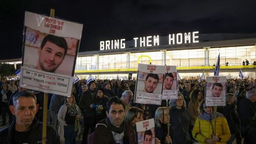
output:
<instances>
[{"instance_id":1,"label":"man's head printed on front poster of the overlapping pair","mask_svg":"<svg viewBox=\"0 0 256 144\"><path fill-rule=\"evenodd\" d=\"M153 93L158 85L159 76L156 73L148 73L145 80L144 92Z\"/></svg>"}]
</instances>

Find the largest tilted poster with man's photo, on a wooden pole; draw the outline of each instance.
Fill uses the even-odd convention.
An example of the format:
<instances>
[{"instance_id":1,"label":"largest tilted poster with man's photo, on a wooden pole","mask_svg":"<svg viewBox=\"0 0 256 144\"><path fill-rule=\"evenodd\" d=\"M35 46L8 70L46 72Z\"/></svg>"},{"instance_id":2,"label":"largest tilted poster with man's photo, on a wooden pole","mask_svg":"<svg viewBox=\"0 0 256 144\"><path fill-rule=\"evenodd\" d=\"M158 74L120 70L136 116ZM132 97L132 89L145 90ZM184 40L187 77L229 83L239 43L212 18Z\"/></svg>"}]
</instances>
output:
<instances>
[{"instance_id":1,"label":"largest tilted poster with man's photo, on a wooden pole","mask_svg":"<svg viewBox=\"0 0 256 144\"><path fill-rule=\"evenodd\" d=\"M69 96L82 27L25 12L21 87Z\"/></svg>"}]
</instances>

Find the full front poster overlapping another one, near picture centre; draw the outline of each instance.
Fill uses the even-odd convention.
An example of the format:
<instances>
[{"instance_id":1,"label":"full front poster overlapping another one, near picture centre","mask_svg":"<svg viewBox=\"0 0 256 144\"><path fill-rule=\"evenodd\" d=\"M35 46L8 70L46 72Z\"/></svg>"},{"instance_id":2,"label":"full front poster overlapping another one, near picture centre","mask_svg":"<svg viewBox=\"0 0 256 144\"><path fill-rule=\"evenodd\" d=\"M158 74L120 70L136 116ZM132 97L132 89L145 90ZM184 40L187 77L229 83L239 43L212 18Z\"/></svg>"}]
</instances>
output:
<instances>
[{"instance_id":1,"label":"full front poster overlapping another one, near picture centre","mask_svg":"<svg viewBox=\"0 0 256 144\"><path fill-rule=\"evenodd\" d=\"M161 105L165 66L139 63L135 103Z\"/></svg>"}]
</instances>

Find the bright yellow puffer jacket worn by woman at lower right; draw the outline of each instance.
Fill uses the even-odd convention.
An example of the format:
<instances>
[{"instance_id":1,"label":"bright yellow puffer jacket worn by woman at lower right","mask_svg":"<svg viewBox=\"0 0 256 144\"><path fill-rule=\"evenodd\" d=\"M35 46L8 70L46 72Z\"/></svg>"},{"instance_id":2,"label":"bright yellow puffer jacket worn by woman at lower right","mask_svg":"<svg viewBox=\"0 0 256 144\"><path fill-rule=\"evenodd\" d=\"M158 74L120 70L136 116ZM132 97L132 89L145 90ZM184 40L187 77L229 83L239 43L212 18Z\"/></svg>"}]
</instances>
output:
<instances>
[{"instance_id":1,"label":"bright yellow puffer jacket worn by woman at lower right","mask_svg":"<svg viewBox=\"0 0 256 144\"><path fill-rule=\"evenodd\" d=\"M204 119L203 114L199 114L199 117L197 117L194 124L192 135L194 139L199 142L199 144L206 143L204 140L212 138L213 130L215 130L215 119L209 121ZM216 136L220 138L219 142L216 144L224 144L228 142L229 138L231 137L228 122L220 113L216 113Z\"/></svg>"}]
</instances>

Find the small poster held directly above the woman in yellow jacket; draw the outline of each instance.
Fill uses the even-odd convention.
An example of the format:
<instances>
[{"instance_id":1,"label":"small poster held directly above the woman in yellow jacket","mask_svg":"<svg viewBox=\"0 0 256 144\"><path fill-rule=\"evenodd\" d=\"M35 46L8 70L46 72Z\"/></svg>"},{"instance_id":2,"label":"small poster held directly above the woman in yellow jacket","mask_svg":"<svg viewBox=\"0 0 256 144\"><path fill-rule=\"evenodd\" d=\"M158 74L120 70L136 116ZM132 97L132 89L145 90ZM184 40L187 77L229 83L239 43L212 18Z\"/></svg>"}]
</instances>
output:
<instances>
[{"instance_id":1,"label":"small poster held directly above the woman in yellow jacket","mask_svg":"<svg viewBox=\"0 0 256 144\"><path fill-rule=\"evenodd\" d=\"M206 77L206 105L226 105L226 76Z\"/></svg>"}]
</instances>

